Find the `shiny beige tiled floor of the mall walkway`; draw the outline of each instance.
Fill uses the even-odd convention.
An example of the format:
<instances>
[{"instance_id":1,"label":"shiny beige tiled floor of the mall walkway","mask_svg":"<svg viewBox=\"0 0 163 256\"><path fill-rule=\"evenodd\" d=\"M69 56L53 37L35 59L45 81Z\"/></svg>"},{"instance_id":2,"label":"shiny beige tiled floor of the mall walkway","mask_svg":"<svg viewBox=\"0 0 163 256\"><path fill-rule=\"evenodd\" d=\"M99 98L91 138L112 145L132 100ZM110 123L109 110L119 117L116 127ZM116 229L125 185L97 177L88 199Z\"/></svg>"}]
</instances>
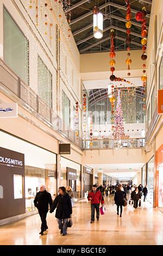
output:
<instances>
[{"instance_id":1,"label":"shiny beige tiled floor of the mall walkway","mask_svg":"<svg viewBox=\"0 0 163 256\"><path fill-rule=\"evenodd\" d=\"M40 232L38 214L0 226L0 245L163 245L163 213L148 202L133 209L129 204L117 217L114 197L105 197L107 212L90 223L91 206L86 199L73 208L73 226L66 236L58 229L55 214L47 214L48 230Z\"/></svg>"}]
</instances>

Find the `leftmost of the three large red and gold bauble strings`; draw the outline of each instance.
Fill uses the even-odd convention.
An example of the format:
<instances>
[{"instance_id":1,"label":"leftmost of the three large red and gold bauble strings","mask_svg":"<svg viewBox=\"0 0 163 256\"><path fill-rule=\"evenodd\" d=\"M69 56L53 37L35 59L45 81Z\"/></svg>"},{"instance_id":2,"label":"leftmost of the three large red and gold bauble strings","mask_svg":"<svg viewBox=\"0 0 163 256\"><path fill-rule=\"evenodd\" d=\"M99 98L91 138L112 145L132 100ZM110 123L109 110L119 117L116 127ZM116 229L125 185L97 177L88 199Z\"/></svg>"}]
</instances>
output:
<instances>
[{"instance_id":1,"label":"leftmost of the three large red and gold bauble strings","mask_svg":"<svg viewBox=\"0 0 163 256\"><path fill-rule=\"evenodd\" d=\"M114 39L115 39L115 32L114 32L114 29L111 29L110 31L110 38L111 38L111 47L110 47L110 71L111 71L111 76L110 76L110 81L115 81L116 80L116 77L115 75L113 74L113 72L115 71L115 64L116 64L116 61L114 60L116 54L115 54L115 48L114 48ZM111 85L111 94L112 96L110 97L110 102L111 102L111 122L114 122L114 102L115 102L115 96L114 96L114 84Z\"/></svg>"}]
</instances>

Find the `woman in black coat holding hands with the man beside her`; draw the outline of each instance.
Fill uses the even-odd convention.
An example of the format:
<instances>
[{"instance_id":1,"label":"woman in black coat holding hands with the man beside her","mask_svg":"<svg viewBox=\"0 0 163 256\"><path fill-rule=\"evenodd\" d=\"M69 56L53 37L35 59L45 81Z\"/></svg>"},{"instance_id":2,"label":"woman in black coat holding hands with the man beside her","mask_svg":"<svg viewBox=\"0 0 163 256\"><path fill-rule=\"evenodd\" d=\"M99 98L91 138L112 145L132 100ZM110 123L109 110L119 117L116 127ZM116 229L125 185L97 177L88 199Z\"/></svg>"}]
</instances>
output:
<instances>
[{"instance_id":1,"label":"woman in black coat holding hands with the man beside her","mask_svg":"<svg viewBox=\"0 0 163 256\"><path fill-rule=\"evenodd\" d=\"M59 187L59 196L57 196L51 206L50 213L56 210L55 217L57 218L60 234L67 235L67 221L72 214L71 198L66 193L65 187Z\"/></svg>"}]
</instances>

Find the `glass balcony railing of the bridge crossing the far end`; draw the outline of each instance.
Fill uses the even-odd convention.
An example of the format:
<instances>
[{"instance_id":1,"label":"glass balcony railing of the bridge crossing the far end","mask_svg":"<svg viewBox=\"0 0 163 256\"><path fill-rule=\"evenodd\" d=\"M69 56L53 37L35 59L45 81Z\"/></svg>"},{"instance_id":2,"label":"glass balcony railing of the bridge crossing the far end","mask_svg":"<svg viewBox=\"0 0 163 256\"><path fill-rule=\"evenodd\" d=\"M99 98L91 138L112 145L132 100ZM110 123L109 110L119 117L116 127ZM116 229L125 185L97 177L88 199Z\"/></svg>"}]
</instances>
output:
<instances>
[{"instance_id":1,"label":"glass balcony railing of the bridge crossing the far end","mask_svg":"<svg viewBox=\"0 0 163 256\"><path fill-rule=\"evenodd\" d=\"M91 144L92 143L92 144ZM145 146L145 138L127 139L85 139L83 149L140 149Z\"/></svg>"}]
</instances>

